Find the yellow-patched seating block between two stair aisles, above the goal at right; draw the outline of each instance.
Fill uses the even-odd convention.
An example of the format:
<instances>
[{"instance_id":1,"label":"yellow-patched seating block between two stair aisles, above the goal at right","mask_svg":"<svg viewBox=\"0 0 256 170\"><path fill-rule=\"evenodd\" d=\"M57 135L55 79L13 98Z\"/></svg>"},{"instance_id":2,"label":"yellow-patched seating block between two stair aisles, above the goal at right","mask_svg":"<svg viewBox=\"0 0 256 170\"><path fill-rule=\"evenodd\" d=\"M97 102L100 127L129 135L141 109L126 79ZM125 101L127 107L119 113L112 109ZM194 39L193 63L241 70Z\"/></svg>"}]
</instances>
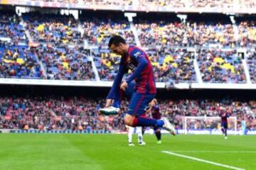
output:
<instances>
[{"instance_id":1,"label":"yellow-patched seating block between two stair aisles, above the goal at right","mask_svg":"<svg viewBox=\"0 0 256 170\"><path fill-rule=\"evenodd\" d=\"M200 49L198 64L203 81L210 83L245 83L242 57L236 50Z\"/></svg>"}]
</instances>

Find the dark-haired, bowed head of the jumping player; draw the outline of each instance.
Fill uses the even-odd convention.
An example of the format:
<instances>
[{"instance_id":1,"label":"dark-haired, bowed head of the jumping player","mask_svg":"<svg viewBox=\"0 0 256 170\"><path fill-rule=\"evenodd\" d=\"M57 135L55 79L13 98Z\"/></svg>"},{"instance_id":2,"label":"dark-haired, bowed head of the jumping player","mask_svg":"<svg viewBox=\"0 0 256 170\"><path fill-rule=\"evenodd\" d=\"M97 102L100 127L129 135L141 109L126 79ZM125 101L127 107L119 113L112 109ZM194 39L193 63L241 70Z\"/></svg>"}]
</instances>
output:
<instances>
[{"instance_id":1,"label":"dark-haired, bowed head of the jumping player","mask_svg":"<svg viewBox=\"0 0 256 170\"><path fill-rule=\"evenodd\" d=\"M125 55L128 50L127 42L119 35L112 35L108 44L110 50L117 55Z\"/></svg>"}]
</instances>

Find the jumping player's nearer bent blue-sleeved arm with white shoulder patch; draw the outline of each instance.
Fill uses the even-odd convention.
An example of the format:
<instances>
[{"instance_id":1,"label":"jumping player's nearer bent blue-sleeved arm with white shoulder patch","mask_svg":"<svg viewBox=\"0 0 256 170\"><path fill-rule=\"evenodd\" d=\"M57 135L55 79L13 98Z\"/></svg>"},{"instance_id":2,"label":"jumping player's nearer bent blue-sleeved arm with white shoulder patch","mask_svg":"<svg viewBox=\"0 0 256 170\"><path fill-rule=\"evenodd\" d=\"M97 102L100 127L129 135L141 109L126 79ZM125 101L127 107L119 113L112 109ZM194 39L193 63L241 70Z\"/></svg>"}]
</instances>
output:
<instances>
[{"instance_id":1,"label":"jumping player's nearer bent blue-sleeved arm with white shoulder patch","mask_svg":"<svg viewBox=\"0 0 256 170\"><path fill-rule=\"evenodd\" d=\"M129 84L132 80L137 78L139 74L143 71L143 69L148 64L148 61L146 60L146 56L143 54L143 52L140 52L138 50L134 50L131 54L131 57L133 57L137 62L138 66L134 73L126 80L127 84Z\"/></svg>"}]
</instances>

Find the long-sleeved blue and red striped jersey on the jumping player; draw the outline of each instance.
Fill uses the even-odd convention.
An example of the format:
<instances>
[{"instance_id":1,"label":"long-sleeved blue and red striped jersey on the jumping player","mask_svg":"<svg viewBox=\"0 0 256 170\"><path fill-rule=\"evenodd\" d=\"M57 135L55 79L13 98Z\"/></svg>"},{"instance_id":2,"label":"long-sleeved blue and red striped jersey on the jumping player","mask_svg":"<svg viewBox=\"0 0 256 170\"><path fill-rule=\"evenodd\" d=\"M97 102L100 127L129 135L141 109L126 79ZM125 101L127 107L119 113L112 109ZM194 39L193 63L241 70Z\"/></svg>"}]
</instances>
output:
<instances>
[{"instance_id":1,"label":"long-sleeved blue and red striped jersey on the jumping player","mask_svg":"<svg viewBox=\"0 0 256 170\"><path fill-rule=\"evenodd\" d=\"M114 84L107 98L114 98L114 94L119 91L119 85L122 82L124 73L127 73L129 69L132 71L132 74L125 80L127 84L135 80L135 90L138 93L156 94L154 71L148 55L138 47L129 46L128 54L121 57L117 76L114 78Z\"/></svg>"}]
</instances>

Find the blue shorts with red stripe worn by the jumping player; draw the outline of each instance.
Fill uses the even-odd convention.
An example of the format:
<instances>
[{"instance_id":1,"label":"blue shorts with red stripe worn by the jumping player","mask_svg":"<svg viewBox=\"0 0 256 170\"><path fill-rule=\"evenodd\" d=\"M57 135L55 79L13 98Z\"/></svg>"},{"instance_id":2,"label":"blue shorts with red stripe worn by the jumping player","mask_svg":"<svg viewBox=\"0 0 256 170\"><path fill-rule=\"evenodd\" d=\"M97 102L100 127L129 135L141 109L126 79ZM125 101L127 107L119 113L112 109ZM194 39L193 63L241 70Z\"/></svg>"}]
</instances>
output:
<instances>
[{"instance_id":1,"label":"blue shorts with red stripe worn by the jumping player","mask_svg":"<svg viewBox=\"0 0 256 170\"><path fill-rule=\"evenodd\" d=\"M149 105L149 102L154 99L156 94L140 94L134 91L134 85L134 82L129 83L125 91L125 94L131 97L127 113L139 117L144 114L144 109Z\"/></svg>"}]
</instances>

